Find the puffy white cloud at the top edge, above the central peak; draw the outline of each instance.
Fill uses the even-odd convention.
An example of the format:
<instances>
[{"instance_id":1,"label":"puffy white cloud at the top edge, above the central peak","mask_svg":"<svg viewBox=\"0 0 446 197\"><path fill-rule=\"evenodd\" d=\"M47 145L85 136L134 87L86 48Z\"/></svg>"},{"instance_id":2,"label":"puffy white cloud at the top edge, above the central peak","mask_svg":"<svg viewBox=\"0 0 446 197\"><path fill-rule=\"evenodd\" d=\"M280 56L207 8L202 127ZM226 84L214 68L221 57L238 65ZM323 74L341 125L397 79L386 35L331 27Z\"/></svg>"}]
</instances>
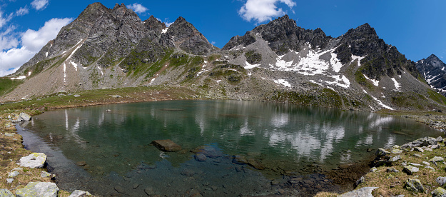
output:
<instances>
[{"instance_id":1,"label":"puffy white cloud at the top edge, above the central peak","mask_svg":"<svg viewBox=\"0 0 446 197\"><path fill-rule=\"evenodd\" d=\"M283 9L276 6L277 3L286 4L290 9L296 5L292 0L247 0L238 14L246 21L257 21L257 23L270 21L272 17L285 14Z\"/></svg>"}]
</instances>

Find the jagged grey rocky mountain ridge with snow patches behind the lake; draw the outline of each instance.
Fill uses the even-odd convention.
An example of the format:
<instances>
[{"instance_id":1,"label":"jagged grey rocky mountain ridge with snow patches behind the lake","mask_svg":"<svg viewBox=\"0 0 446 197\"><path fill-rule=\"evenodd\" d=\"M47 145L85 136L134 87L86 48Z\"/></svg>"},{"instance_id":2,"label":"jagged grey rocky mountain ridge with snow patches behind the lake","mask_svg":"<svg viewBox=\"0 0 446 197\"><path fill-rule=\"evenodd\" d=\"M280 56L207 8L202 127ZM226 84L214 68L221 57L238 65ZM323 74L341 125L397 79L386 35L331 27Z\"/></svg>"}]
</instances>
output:
<instances>
[{"instance_id":1,"label":"jagged grey rocky mountain ridge with snow patches behind the lake","mask_svg":"<svg viewBox=\"0 0 446 197\"><path fill-rule=\"evenodd\" d=\"M179 17L171 26L125 5L89 5L13 76L3 101L59 91L181 86L201 98L279 101L375 111L444 108L415 63L363 24L342 36L283 16L223 49Z\"/></svg>"}]
</instances>

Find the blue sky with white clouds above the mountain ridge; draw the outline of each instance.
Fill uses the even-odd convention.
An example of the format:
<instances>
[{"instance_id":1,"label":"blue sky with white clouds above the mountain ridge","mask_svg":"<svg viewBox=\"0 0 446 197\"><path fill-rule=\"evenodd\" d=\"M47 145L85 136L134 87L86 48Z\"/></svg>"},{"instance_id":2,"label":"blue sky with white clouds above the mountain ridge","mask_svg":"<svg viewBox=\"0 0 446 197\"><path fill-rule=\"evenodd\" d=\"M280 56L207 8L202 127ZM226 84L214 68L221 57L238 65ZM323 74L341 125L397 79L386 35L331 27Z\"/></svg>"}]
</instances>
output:
<instances>
[{"instance_id":1,"label":"blue sky with white clouds above the mountain ridge","mask_svg":"<svg viewBox=\"0 0 446 197\"><path fill-rule=\"evenodd\" d=\"M62 26L95 1L0 0L0 76L11 74L54 39ZM446 58L446 1L443 0L223 0L101 1L126 4L142 20L153 15L171 23L178 16L191 22L218 47L232 36L288 14L305 29L320 27L337 37L368 23L387 44L408 59L430 54Z\"/></svg>"}]
</instances>

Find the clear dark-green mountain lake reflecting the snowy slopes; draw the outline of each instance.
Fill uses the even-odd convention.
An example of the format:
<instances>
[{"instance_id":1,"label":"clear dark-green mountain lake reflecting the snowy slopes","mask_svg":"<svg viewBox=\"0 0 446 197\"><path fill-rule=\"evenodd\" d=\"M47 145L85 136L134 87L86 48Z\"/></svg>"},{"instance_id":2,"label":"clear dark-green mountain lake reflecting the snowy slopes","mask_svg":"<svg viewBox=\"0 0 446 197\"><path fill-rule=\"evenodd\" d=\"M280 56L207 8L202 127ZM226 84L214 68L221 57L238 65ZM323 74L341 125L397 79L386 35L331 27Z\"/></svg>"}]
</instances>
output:
<instances>
[{"instance_id":1,"label":"clear dark-green mountain lake reflecting the snowy slopes","mask_svg":"<svg viewBox=\"0 0 446 197\"><path fill-rule=\"evenodd\" d=\"M97 196L343 192L377 148L441 134L397 116L255 101L69 108L17 128L25 148L46 153L59 188ZM183 150L151 145L164 139Z\"/></svg>"}]
</instances>

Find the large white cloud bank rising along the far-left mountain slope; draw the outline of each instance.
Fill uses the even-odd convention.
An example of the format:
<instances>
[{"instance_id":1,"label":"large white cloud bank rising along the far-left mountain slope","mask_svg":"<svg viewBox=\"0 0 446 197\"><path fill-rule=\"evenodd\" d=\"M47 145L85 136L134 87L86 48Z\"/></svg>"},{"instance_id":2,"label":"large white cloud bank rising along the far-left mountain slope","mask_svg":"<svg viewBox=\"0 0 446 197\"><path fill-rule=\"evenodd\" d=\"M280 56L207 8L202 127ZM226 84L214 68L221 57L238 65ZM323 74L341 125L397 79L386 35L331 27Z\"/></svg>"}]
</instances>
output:
<instances>
[{"instance_id":1,"label":"large white cloud bank rising along the far-left mountain slope","mask_svg":"<svg viewBox=\"0 0 446 197\"><path fill-rule=\"evenodd\" d=\"M46 21L38 31L28 29L21 35L21 47L15 46L8 51L1 51L0 76L14 73L21 65L37 54L48 41L56 38L61 28L71 21L73 19L51 19Z\"/></svg>"}]
</instances>

